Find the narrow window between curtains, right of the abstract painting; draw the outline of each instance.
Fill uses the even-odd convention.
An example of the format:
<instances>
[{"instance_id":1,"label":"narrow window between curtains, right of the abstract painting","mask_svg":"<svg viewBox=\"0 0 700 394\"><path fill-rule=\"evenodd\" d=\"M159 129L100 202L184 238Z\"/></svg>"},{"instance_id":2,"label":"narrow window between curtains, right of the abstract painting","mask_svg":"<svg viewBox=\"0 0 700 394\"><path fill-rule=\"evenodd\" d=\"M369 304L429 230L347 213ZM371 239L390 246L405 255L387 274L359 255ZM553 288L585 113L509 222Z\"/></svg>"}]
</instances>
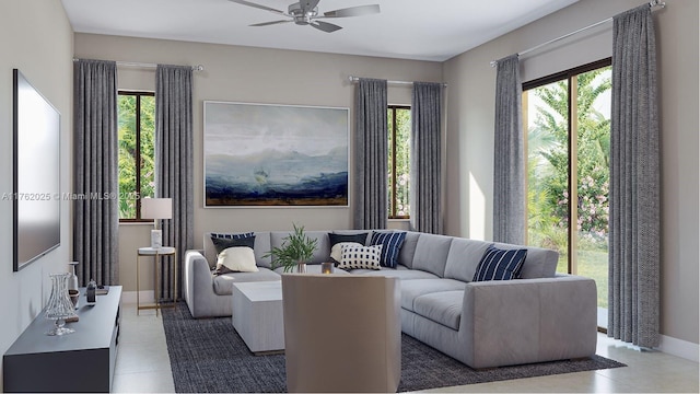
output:
<instances>
[{"instance_id":1,"label":"narrow window between curtains, right of the abstract painting","mask_svg":"<svg viewBox=\"0 0 700 394\"><path fill-rule=\"evenodd\" d=\"M408 201L410 189L409 141L411 134L411 108L389 105L388 123L388 218L410 218Z\"/></svg>"}]
</instances>

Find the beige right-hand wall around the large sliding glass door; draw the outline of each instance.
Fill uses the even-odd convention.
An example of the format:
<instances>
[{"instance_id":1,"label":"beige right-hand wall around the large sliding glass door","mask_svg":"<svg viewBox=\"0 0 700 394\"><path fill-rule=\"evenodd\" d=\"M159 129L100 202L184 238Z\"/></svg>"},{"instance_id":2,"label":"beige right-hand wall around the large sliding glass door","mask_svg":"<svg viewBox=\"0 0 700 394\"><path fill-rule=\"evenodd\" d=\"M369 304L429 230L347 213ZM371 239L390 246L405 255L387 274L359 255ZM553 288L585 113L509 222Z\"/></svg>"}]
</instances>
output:
<instances>
[{"instance_id":1,"label":"beige right-hand wall around the large sliding glass door","mask_svg":"<svg viewBox=\"0 0 700 394\"><path fill-rule=\"evenodd\" d=\"M447 108L446 232L492 236L493 103L489 62L643 3L581 0L444 63ZM654 12L662 132L661 332L698 344L698 2L668 0ZM611 23L522 58L524 81L611 55ZM695 349L697 359L697 347Z\"/></svg>"}]
</instances>

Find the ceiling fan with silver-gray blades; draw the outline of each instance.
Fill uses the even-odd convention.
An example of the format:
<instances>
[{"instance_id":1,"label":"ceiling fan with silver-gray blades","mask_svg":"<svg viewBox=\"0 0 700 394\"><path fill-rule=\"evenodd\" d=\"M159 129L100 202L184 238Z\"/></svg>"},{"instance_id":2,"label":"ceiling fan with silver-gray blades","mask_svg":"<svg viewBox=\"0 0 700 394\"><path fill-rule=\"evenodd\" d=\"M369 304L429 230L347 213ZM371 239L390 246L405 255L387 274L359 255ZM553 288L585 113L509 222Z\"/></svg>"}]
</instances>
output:
<instances>
[{"instance_id":1,"label":"ceiling fan with silver-gray blades","mask_svg":"<svg viewBox=\"0 0 700 394\"><path fill-rule=\"evenodd\" d=\"M312 27L316 27L319 31L326 32L326 33L332 33L342 27L332 23L318 21L319 19L362 16L362 15L371 15L371 14L380 13L380 4L350 7L346 9L324 12L323 15L319 15L318 2L320 0L301 0L300 2L290 4L287 12L276 10L273 8L269 8L266 5L257 4L250 1L245 1L245 0L229 0L229 1L243 4L243 5L257 8L260 10L270 11L279 15L291 18L288 20L256 23L256 24L252 24L250 26L269 26L273 24L294 22L298 25L310 25Z\"/></svg>"}]
</instances>

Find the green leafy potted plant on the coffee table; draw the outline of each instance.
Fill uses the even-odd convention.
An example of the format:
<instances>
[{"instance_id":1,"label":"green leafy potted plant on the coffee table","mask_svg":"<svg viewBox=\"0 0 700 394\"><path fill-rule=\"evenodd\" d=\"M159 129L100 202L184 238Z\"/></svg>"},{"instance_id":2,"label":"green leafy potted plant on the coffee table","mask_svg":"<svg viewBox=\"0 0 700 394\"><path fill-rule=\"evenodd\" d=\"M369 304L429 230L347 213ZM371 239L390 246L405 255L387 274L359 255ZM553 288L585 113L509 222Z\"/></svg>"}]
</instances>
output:
<instances>
[{"instance_id":1,"label":"green leafy potted plant on the coffee table","mask_svg":"<svg viewBox=\"0 0 700 394\"><path fill-rule=\"evenodd\" d=\"M312 240L304 234L304 227L293 224L294 231L282 239L280 247L272 247L265 257L272 256L272 269L284 267L284 273L296 267L298 273L306 271L306 262L316 251L317 240Z\"/></svg>"}]
</instances>

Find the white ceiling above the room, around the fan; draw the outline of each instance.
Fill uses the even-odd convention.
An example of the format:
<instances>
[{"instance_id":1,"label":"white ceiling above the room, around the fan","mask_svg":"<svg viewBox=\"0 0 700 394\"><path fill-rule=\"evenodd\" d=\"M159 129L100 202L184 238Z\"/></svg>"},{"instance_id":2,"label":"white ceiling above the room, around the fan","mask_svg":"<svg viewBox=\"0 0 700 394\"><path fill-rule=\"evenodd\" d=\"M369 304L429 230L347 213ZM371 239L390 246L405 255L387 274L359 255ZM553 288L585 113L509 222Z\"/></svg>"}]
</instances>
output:
<instances>
[{"instance_id":1,"label":"white ceiling above the room, around the fan","mask_svg":"<svg viewBox=\"0 0 700 394\"><path fill-rule=\"evenodd\" d=\"M444 61L578 0L320 0L318 13L380 4L373 15L326 20L334 33L229 0L61 0L75 33ZM249 0L287 12L294 0ZM125 59L127 60L127 59Z\"/></svg>"}]
</instances>

